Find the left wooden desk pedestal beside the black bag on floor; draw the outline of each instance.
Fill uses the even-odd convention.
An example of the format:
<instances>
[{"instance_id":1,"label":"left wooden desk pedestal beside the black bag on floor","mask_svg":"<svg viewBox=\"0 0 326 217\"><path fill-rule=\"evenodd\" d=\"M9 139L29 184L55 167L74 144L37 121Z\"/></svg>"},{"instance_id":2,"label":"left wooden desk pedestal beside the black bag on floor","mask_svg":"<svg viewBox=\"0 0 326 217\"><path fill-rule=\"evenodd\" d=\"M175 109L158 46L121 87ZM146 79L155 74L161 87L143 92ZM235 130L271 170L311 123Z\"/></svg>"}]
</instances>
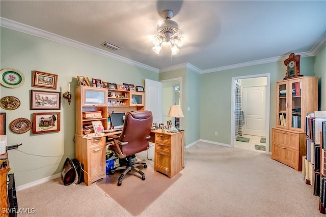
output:
<instances>
[{"instance_id":1,"label":"left wooden desk pedestal beside the black bag on floor","mask_svg":"<svg viewBox=\"0 0 326 217\"><path fill-rule=\"evenodd\" d=\"M76 159L84 164L84 179L87 185L104 178L105 137L86 139L76 135Z\"/></svg>"}]
</instances>

